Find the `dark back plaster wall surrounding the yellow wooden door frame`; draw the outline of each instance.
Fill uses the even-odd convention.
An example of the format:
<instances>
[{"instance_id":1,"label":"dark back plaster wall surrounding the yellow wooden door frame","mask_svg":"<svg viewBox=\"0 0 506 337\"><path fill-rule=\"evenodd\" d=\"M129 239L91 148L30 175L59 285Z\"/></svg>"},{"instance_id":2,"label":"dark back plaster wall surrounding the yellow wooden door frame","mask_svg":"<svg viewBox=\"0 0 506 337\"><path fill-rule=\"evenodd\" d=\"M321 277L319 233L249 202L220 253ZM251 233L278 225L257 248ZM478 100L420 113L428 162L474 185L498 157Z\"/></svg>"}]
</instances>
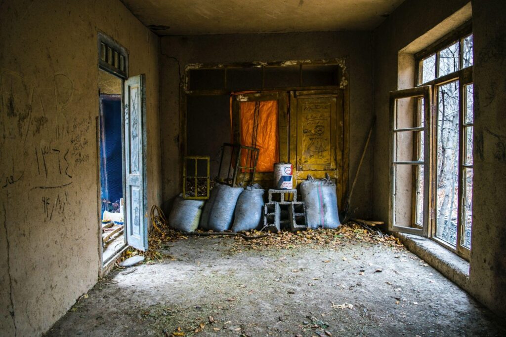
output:
<instances>
[{"instance_id":1,"label":"dark back plaster wall surrounding the yellow wooden door frame","mask_svg":"<svg viewBox=\"0 0 506 337\"><path fill-rule=\"evenodd\" d=\"M180 80L192 63L240 63L322 60L346 57L350 85L350 180L372 121L372 57L370 32L193 35L161 38L160 127L162 128L163 210L170 211L179 192ZM225 113L228 114L228 111ZM208 141L214 134L201 135ZM217 149L218 151L218 149ZM372 211L372 143L369 145L350 210L369 217Z\"/></svg>"}]
</instances>

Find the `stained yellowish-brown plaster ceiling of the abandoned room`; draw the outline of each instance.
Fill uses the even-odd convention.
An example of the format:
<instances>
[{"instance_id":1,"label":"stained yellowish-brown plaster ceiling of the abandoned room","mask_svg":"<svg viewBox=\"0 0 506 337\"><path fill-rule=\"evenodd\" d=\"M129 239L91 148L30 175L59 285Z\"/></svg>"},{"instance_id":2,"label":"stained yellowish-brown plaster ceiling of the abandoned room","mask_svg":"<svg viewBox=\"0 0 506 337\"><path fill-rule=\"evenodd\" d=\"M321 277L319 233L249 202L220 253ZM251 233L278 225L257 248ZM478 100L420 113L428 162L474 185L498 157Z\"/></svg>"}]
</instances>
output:
<instances>
[{"instance_id":1,"label":"stained yellowish-brown plaster ceiling of the abandoned room","mask_svg":"<svg viewBox=\"0 0 506 337\"><path fill-rule=\"evenodd\" d=\"M372 30L404 0L121 0L158 35Z\"/></svg>"}]
</instances>

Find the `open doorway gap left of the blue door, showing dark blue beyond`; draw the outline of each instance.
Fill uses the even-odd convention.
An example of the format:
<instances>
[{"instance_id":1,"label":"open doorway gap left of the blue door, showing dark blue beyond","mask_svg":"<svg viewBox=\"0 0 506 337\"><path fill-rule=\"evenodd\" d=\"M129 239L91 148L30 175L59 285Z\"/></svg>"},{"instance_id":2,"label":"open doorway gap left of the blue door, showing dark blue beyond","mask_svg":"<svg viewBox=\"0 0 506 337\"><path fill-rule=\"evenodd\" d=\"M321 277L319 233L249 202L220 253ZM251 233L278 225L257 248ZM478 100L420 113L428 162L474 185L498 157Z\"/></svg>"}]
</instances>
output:
<instances>
[{"instance_id":1,"label":"open doorway gap left of the blue door, showing dark blue beyond","mask_svg":"<svg viewBox=\"0 0 506 337\"><path fill-rule=\"evenodd\" d=\"M126 244L124 231L122 80L99 70L99 145L102 261L106 264Z\"/></svg>"}]
</instances>

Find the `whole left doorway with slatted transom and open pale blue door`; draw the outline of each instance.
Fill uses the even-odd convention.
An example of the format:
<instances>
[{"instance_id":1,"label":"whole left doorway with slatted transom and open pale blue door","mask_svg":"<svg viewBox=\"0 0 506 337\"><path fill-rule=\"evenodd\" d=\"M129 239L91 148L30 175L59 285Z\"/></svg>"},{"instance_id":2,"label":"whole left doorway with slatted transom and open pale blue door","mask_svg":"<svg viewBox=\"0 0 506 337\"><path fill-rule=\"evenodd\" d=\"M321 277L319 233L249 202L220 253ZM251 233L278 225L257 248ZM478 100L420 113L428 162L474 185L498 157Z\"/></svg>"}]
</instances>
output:
<instances>
[{"instance_id":1,"label":"whole left doorway with slatted transom and open pale blue door","mask_svg":"<svg viewBox=\"0 0 506 337\"><path fill-rule=\"evenodd\" d=\"M145 75L128 77L128 52L98 34L99 240L106 272L127 246L148 247Z\"/></svg>"}]
</instances>

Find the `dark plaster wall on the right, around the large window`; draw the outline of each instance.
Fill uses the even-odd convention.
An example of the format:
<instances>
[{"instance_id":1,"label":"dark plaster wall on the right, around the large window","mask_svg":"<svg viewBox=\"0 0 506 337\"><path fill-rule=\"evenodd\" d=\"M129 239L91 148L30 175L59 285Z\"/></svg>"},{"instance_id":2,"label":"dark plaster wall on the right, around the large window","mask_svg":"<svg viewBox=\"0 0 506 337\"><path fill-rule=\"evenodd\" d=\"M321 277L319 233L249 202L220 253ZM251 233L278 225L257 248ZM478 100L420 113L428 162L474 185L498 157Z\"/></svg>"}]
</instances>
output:
<instances>
[{"instance_id":1,"label":"dark plaster wall on the right, around the large window","mask_svg":"<svg viewBox=\"0 0 506 337\"><path fill-rule=\"evenodd\" d=\"M374 31L374 215L388 220L389 91L413 86L398 77L398 52L467 5L466 0L408 0ZM499 315L506 314L505 26L502 1L472 1L474 33L474 191L470 276L460 286ZM415 51L411 51L415 52ZM402 62L402 60L401 60ZM401 67L402 68L402 67ZM405 79L405 78L404 78Z\"/></svg>"}]
</instances>

